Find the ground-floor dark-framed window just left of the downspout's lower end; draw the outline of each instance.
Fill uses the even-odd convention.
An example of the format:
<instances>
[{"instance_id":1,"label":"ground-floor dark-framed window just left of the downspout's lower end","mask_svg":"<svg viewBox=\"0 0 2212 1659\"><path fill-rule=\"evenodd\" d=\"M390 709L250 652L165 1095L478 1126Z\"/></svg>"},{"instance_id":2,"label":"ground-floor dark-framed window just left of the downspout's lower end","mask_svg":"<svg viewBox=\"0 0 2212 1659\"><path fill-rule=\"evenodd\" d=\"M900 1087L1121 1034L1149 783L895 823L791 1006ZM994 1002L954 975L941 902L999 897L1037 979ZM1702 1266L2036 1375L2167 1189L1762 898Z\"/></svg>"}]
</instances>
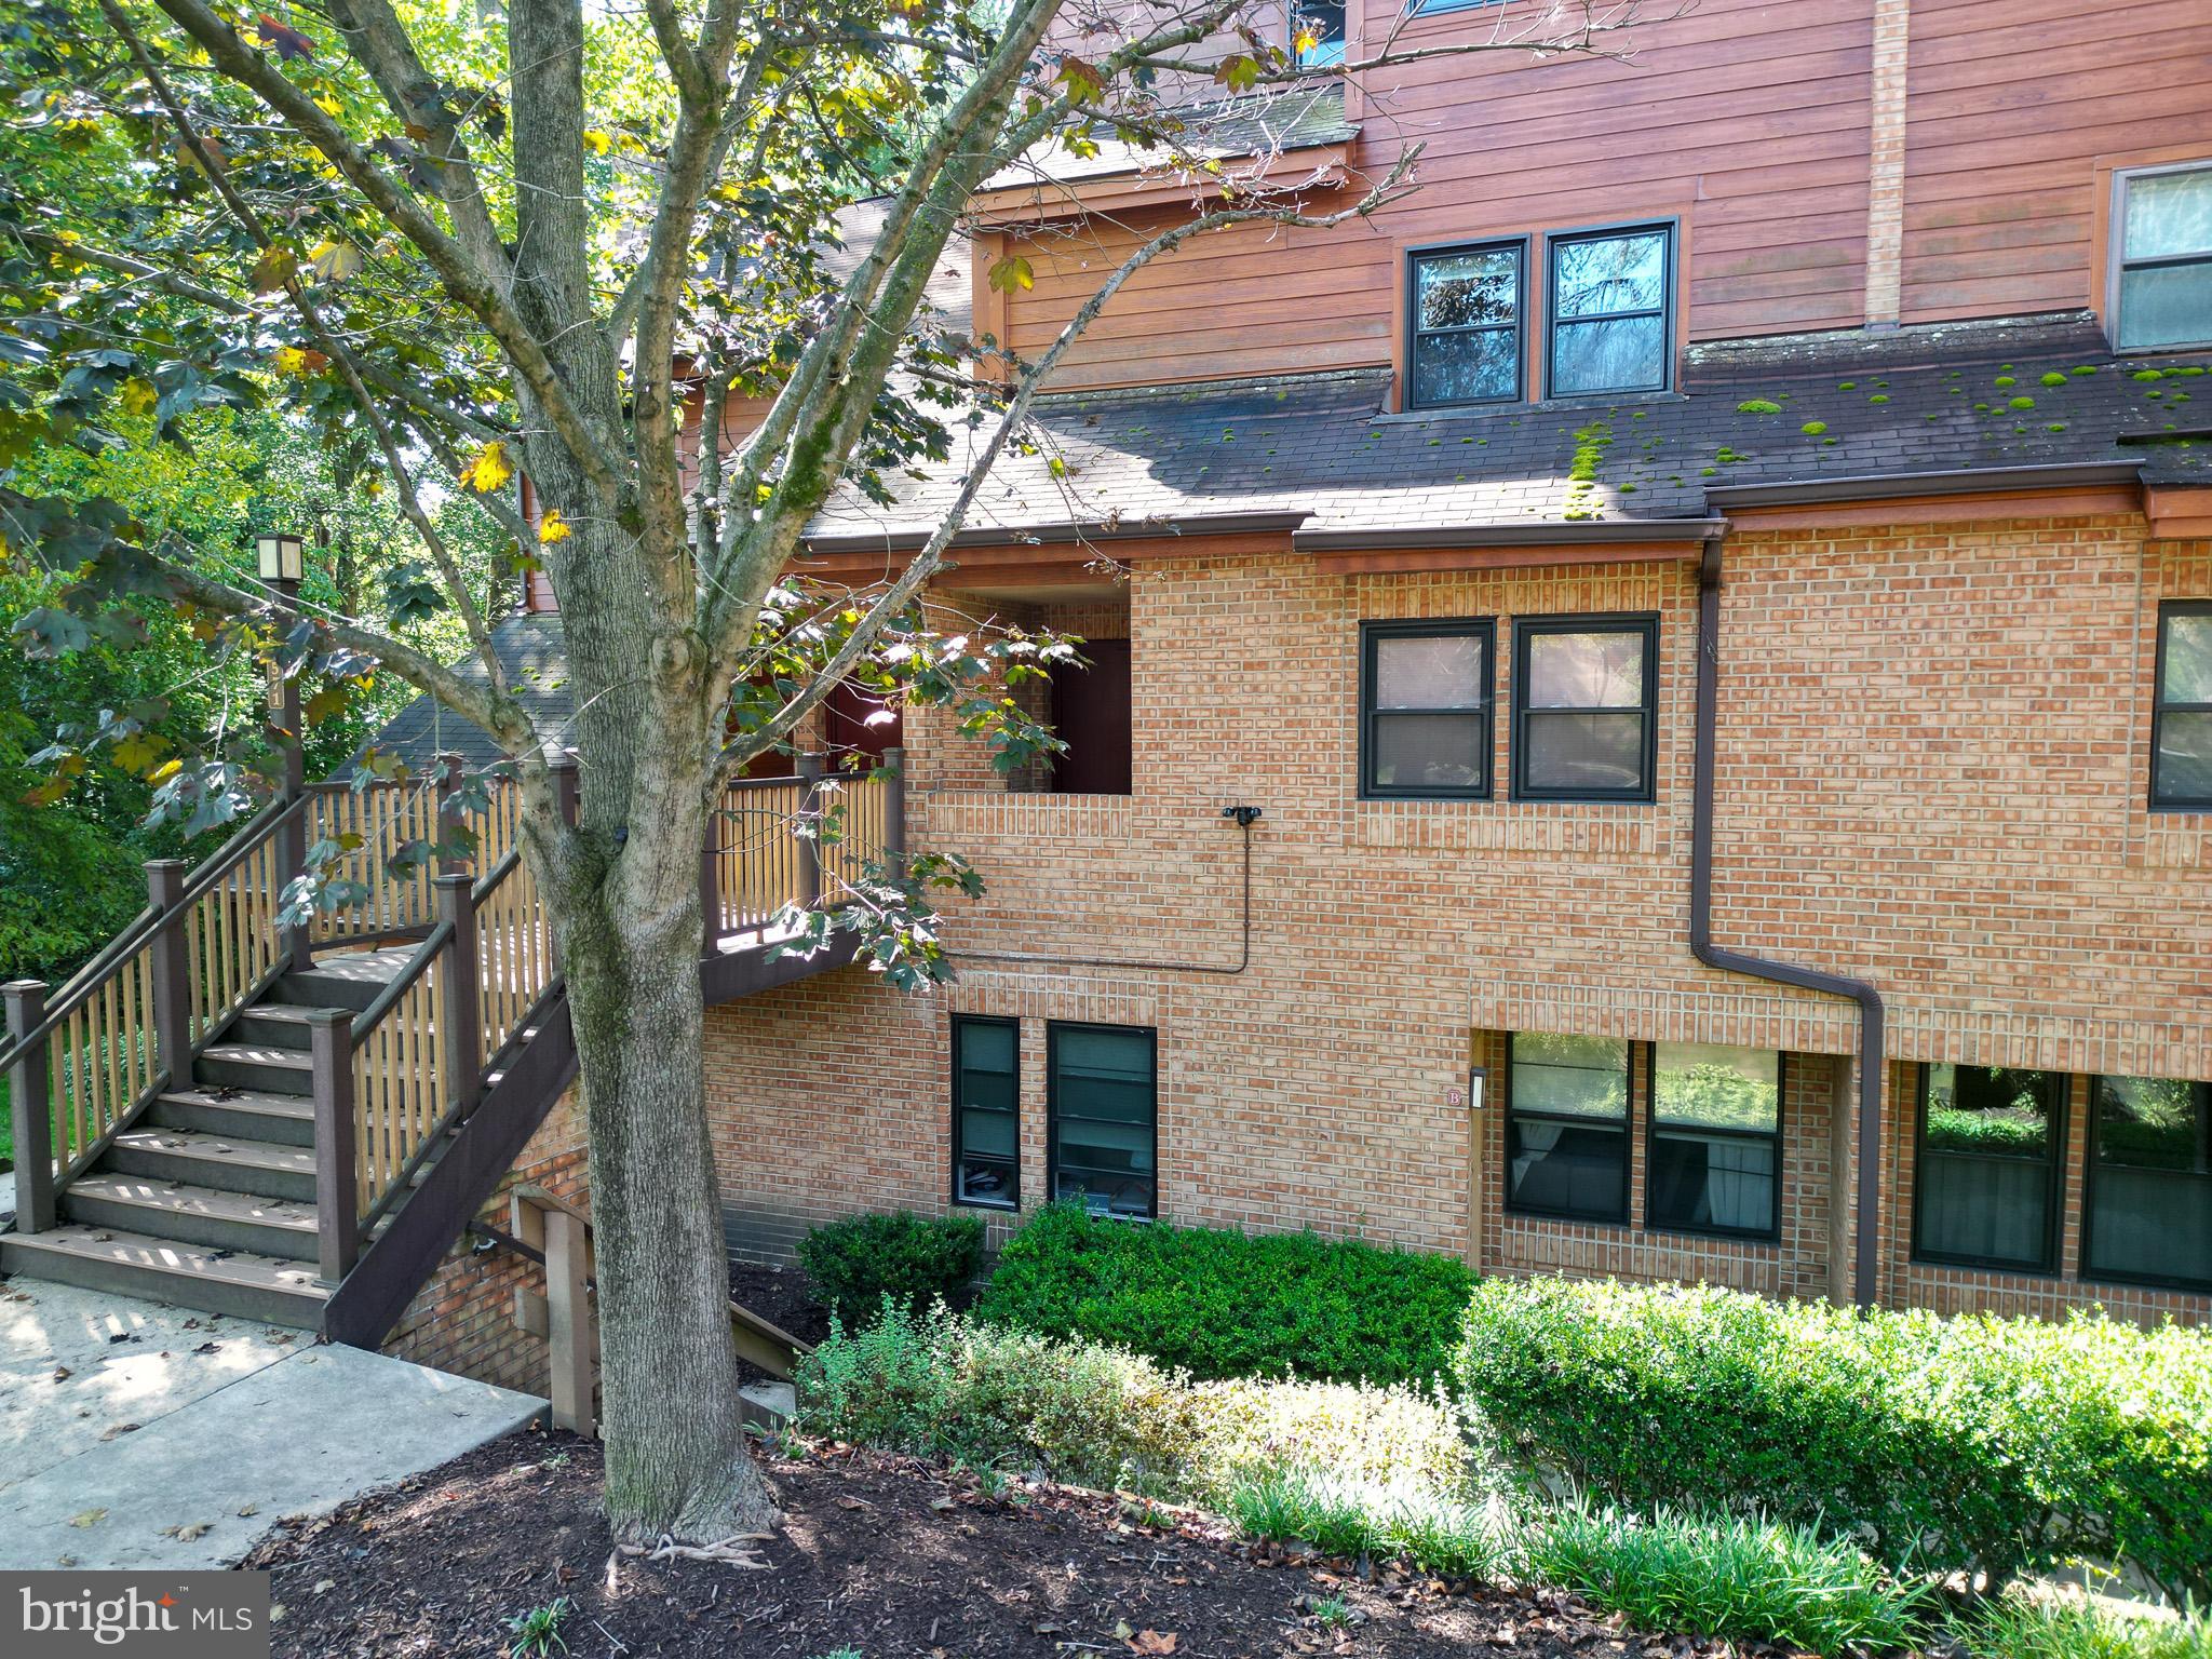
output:
<instances>
[{"instance_id":1,"label":"ground-floor dark-framed window just left of the downspout's lower end","mask_svg":"<svg viewBox=\"0 0 2212 1659\"><path fill-rule=\"evenodd\" d=\"M1710 1042L1652 1044L1646 1225L1728 1239L1781 1234L1783 1057Z\"/></svg>"}]
</instances>

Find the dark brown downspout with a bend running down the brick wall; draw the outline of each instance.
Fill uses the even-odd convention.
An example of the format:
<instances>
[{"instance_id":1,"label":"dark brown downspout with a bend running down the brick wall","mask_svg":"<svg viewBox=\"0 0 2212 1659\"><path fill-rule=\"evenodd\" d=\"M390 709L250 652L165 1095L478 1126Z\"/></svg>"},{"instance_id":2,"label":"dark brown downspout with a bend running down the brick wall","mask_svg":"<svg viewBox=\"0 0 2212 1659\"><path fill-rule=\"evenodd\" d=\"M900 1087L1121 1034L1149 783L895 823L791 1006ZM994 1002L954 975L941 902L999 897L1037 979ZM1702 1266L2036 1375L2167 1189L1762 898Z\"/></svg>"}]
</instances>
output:
<instances>
[{"instance_id":1,"label":"dark brown downspout with a bend running down the brick wall","mask_svg":"<svg viewBox=\"0 0 2212 1659\"><path fill-rule=\"evenodd\" d=\"M1697 568L1697 763L1690 807L1690 953L1705 967L1754 980L1796 984L1805 991L1851 998L1858 1004L1858 1234L1851 1263L1851 1301L1874 1307L1880 1272L1882 1190L1882 993L1865 980L1723 951L1712 942L1712 770L1721 710L1721 538L1705 538Z\"/></svg>"}]
</instances>

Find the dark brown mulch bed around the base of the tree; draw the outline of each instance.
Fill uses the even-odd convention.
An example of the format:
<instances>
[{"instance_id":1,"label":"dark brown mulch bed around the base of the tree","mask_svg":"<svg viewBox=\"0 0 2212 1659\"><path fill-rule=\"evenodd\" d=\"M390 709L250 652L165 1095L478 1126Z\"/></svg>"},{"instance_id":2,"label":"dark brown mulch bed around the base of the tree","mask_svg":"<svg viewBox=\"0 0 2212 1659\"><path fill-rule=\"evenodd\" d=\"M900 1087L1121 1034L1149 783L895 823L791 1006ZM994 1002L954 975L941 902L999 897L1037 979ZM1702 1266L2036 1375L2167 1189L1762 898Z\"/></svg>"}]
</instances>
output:
<instances>
[{"instance_id":1,"label":"dark brown mulch bed around the base of the tree","mask_svg":"<svg viewBox=\"0 0 2212 1659\"><path fill-rule=\"evenodd\" d=\"M971 1475L845 1449L765 1467L785 1511L770 1571L626 1557L611 1582L599 1444L538 1431L285 1522L246 1564L272 1573L274 1652L314 1659L504 1655L507 1619L555 1597L571 1601L560 1635L575 1659L1723 1652L1624 1632L1571 1597L1332 1571L1108 1493L1018 1482L991 1498ZM1334 1615L1332 1597L1349 1621L1312 1610Z\"/></svg>"}]
</instances>

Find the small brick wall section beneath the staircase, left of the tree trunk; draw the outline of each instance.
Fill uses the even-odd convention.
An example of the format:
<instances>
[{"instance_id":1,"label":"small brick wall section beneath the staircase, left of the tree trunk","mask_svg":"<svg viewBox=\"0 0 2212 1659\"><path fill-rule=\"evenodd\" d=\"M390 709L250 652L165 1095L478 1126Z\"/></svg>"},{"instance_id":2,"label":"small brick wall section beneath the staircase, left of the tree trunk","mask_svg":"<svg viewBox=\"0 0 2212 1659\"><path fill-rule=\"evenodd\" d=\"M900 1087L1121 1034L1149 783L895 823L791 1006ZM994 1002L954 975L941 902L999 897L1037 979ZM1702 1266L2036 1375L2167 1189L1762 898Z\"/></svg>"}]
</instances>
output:
<instances>
[{"instance_id":1,"label":"small brick wall section beneath the staircase, left of the tree trunk","mask_svg":"<svg viewBox=\"0 0 2212 1659\"><path fill-rule=\"evenodd\" d=\"M546 1113L546 1121L538 1126L498 1192L480 1210L480 1219L507 1232L507 1194L518 1186L542 1186L588 1208L584 1110L577 1088L562 1095ZM445 1254L392 1327L385 1354L471 1376L478 1383L544 1394L544 1338L515 1329L515 1290L544 1292L544 1270L507 1250L476 1254L476 1245L478 1239L465 1234Z\"/></svg>"}]
</instances>

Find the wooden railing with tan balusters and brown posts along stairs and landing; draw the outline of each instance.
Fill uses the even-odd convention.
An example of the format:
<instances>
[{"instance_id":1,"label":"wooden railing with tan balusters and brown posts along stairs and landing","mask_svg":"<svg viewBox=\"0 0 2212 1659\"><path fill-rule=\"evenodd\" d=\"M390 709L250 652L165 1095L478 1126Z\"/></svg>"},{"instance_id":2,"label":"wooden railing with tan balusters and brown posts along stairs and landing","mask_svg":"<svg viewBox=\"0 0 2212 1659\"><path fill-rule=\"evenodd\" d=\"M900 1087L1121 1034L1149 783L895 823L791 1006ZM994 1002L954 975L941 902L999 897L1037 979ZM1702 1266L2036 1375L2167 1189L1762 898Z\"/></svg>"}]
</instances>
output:
<instances>
[{"instance_id":1,"label":"wooden railing with tan balusters and brown posts along stairs and landing","mask_svg":"<svg viewBox=\"0 0 2212 1659\"><path fill-rule=\"evenodd\" d=\"M699 858L703 949L763 933L790 907L838 902L872 860L905 841L900 754L869 776L830 779L807 757L794 779L732 783ZM575 807L575 763L555 770ZM7 1071L18 1159L18 1228L53 1225L58 1181L93 1157L164 1088L190 1082L192 1055L276 978L312 967L316 945L403 940L400 971L354 1015L310 1011L319 1265L343 1279L363 1239L405 1197L487 1079L544 1018L560 987L551 911L520 845L520 790L502 783L476 812L482 878L429 865L383 883L407 841L436 843L445 787L312 785L270 805L197 869L146 867L148 907L46 998L7 987ZM283 889L314 841L356 836L338 878L363 880L361 914L281 929Z\"/></svg>"}]
</instances>

